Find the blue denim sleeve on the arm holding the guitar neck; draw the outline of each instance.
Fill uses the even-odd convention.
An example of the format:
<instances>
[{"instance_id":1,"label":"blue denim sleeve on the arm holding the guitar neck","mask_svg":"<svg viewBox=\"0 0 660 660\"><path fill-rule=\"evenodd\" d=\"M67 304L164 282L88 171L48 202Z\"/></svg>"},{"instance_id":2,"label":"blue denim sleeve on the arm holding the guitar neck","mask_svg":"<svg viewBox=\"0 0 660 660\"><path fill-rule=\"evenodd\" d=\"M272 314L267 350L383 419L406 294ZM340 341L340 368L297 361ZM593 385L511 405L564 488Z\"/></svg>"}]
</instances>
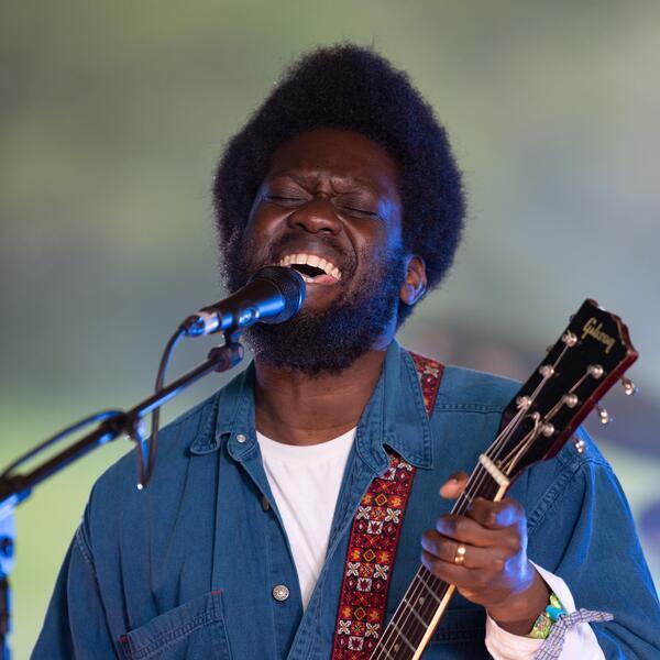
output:
<instances>
[{"instance_id":1,"label":"blue denim sleeve on the arm holding the guitar neck","mask_svg":"<svg viewBox=\"0 0 660 660\"><path fill-rule=\"evenodd\" d=\"M550 462L552 486L528 517L530 559L565 581L576 608L614 615L593 625L606 658L659 658L660 605L630 508L610 466L584 438L583 457L569 444Z\"/></svg>"}]
</instances>

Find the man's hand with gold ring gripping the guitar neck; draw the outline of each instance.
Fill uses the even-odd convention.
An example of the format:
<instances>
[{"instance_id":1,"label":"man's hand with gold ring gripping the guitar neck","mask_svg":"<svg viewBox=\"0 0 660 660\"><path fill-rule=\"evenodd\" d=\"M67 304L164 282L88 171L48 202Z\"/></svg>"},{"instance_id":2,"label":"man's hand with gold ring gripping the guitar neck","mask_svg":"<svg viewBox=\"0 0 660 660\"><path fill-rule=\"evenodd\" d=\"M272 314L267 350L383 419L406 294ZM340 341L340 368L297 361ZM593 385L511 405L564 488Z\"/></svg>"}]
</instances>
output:
<instances>
[{"instance_id":1,"label":"man's hand with gold ring gripping the guitar neck","mask_svg":"<svg viewBox=\"0 0 660 660\"><path fill-rule=\"evenodd\" d=\"M458 497L468 483L453 474L440 488ZM457 563L458 548L465 548ZM447 515L421 537L421 563L436 578L455 585L465 598L483 605L491 618L515 635L527 635L548 604L550 591L527 559L527 518L509 497L476 498L463 516Z\"/></svg>"}]
</instances>

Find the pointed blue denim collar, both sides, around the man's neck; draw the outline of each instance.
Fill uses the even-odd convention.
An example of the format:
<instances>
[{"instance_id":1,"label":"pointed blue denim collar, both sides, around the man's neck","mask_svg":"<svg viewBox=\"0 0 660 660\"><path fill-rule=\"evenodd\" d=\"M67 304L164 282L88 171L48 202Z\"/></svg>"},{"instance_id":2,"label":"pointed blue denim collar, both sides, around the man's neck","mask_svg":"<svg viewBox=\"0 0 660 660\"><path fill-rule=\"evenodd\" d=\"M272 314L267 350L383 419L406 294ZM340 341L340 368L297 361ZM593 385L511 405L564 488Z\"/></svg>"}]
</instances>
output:
<instances>
[{"instance_id":1,"label":"pointed blue denim collar, both sides, around the man's neck","mask_svg":"<svg viewBox=\"0 0 660 660\"><path fill-rule=\"evenodd\" d=\"M256 451L254 363L215 395L215 415L190 446L195 455L217 451L223 439L230 455L242 461ZM432 466L430 424L419 378L409 353L393 341L383 373L358 426L356 451L375 473L388 464L384 446L417 468Z\"/></svg>"}]
</instances>

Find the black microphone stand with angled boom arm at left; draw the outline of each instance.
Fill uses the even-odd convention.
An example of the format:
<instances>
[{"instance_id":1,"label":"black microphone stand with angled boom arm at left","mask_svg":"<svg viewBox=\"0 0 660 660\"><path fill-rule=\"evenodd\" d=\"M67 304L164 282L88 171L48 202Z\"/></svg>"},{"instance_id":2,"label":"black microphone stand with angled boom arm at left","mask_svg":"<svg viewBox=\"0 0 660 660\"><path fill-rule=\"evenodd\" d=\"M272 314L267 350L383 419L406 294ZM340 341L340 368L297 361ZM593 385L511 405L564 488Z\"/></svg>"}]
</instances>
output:
<instances>
[{"instance_id":1,"label":"black microphone stand with angled boom arm at left","mask_svg":"<svg viewBox=\"0 0 660 660\"><path fill-rule=\"evenodd\" d=\"M210 350L206 362L184 374L172 384L163 387L125 413L118 413L101 422L94 431L80 440L37 465L28 474L12 474L10 468L0 476L0 659L9 660L10 649L7 637L10 630L10 588L9 573L13 564L13 519L14 508L25 501L32 488L53 476L69 463L84 457L92 449L106 444L119 436L128 435L142 443L143 418L174 398L177 394L212 372L224 372L234 367L243 359L243 346L239 343L240 333L228 331L224 334L224 345ZM76 427L77 428L77 427ZM51 443L43 443L30 452L30 457L46 449ZM138 448L142 451L142 447Z\"/></svg>"}]
</instances>

